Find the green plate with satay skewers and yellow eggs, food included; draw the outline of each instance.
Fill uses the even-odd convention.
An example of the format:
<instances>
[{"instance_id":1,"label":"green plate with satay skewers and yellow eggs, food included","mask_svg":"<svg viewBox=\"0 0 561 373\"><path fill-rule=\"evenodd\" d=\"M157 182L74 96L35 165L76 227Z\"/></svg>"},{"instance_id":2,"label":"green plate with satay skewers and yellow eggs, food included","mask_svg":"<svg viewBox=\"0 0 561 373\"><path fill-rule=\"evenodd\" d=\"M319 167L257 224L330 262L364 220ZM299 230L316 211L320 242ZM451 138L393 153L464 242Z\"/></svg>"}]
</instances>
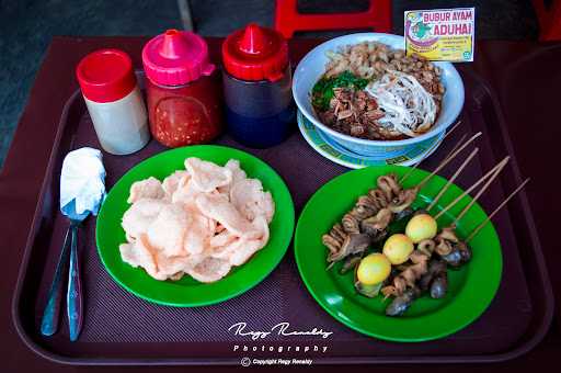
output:
<instances>
[{"instance_id":1,"label":"green plate with satay skewers and yellow eggs, food included","mask_svg":"<svg viewBox=\"0 0 561 373\"><path fill-rule=\"evenodd\" d=\"M466 144L467 145L467 144ZM465 147L465 146L463 146ZM463 148L462 147L462 148ZM420 342L449 336L489 307L503 269L501 244L479 196L507 158L468 190L400 166L346 172L306 204L295 257L313 298L331 316L364 335Z\"/></svg>"}]
</instances>

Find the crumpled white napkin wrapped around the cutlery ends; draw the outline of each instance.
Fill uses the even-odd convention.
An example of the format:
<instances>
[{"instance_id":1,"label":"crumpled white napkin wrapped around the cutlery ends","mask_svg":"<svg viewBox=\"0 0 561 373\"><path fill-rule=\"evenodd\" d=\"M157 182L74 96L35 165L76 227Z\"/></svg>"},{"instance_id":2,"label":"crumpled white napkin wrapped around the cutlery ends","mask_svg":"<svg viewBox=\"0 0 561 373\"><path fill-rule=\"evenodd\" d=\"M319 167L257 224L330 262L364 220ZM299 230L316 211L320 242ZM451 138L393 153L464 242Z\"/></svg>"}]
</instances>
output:
<instances>
[{"instance_id":1,"label":"crumpled white napkin wrapped around the cutlery ends","mask_svg":"<svg viewBox=\"0 0 561 373\"><path fill-rule=\"evenodd\" d=\"M70 151L62 162L60 173L60 210L76 200L76 212L98 215L105 197L105 168L102 154L94 148Z\"/></svg>"}]
</instances>

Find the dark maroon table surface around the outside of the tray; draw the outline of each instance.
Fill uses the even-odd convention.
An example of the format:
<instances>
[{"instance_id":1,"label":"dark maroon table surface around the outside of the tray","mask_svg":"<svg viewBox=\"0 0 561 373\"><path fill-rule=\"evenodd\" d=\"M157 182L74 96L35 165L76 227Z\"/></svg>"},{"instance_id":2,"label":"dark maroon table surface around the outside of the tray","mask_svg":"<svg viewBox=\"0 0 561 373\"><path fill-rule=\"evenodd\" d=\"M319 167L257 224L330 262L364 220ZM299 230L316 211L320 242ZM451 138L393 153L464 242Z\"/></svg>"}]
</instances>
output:
<instances>
[{"instance_id":1,"label":"dark maroon table surface around the outside of the tray","mask_svg":"<svg viewBox=\"0 0 561 373\"><path fill-rule=\"evenodd\" d=\"M43 66L37 74L26 108L21 116L12 146L0 172L0 242L1 260L4 263L4 280L0 282L0 352L2 371L44 372L122 372L123 368L76 368L51 363L35 355L20 340L10 314L11 298L20 267L21 253L25 246L28 228L37 203L55 128L58 126L65 102L78 88L73 69L80 58L102 47L117 47L127 52L135 66L140 67L140 50L147 37L55 37ZM209 38L210 58L219 59L221 39ZM290 54L299 59L317 39L293 39ZM551 282L558 301L561 299L561 271L553 263L561 259L556 237L557 213L561 201L549 191L551 182L559 177L554 173L552 160L557 156L557 138L561 126L553 114L559 105L561 74L561 44L534 42L478 42L476 60L470 68L484 77L499 95L505 120L508 124L515 155L522 173L533 181L527 187L530 205L548 261ZM557 100L557 101L556 101ZM553 118L553 120L551 120ZM546 339L531 352L514 361L493 365L495 371L513 368L536 369L557 362L556 352L561 348L559 317ZM276 369L280 369L276 366ZM366 370L366 368L356 368ZM405 365L379 366L382 371L401 371ZM450 366L422 365L417 371L450 370ZM456 371L468 371L472 366L455 366ZM153 371L144 368L142 371ZM205 368L204 370L216 370ZM220 371L227 369L221 368ZM286 369L283 369L286 371ZM135 370L136 371L136 370ZM169 371L185 371L185 368L169 368Z\"/></svg>"}]
</instances>

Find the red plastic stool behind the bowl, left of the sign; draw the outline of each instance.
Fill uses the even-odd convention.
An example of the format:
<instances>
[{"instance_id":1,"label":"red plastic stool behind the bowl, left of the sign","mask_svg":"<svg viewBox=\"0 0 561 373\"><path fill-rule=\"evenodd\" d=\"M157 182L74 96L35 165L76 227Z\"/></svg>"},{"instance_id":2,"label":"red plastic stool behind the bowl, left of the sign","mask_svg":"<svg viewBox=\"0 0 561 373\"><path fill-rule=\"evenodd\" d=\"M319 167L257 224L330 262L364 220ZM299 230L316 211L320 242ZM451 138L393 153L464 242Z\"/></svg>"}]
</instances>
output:
<instances>
[{"instance_id":1,"label":"red plastic stool behind the bowl, left of the sign","mask_svg":"<svg viewBox=\"0 0 561 373\"><path fill-rule=\"evenodd\" d=\"M373 29L391 32L391 0L370 0L368 10L357 13L301 14L297 0L276 0L275 29L286 38L295 31Z\"/></svg>"}]
</instances>

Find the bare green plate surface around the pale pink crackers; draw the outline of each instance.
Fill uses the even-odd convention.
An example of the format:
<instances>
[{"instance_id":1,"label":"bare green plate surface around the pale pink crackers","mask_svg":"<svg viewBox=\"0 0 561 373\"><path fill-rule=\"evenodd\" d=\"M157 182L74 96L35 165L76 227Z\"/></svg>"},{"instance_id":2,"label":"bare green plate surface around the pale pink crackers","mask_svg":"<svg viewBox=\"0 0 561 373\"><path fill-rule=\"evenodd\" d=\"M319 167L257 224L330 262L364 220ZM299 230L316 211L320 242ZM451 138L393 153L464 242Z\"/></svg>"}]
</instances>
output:
<instances>
[{"instance_id":1,"label":"bare green plate surface around the pale pink crackers","mask_svg":"<svg viewBox=\"0 0 561 373\"><path fill-rule=\"evenodd\" d=\"M226 278L205 284L185 275L180 281L157 281L144 269L123 262L118 246L125 242L121 219L130 206L126 201L133 182L156 177L163 180L173 171L184 169L187 157L225 165L238 159L250 178L262 181L275 201L275 215L270 225L271 239L245 264L232 269ZM263 281L280 262L294 230L294 204L283 179L265 162L241 150L201 145L161 152L138 163L111 189L98 216L95 239L98 252L107 272L130 293L162 305L194 307L219 303L240 295Z\"/></svg>"}]
</instances>

